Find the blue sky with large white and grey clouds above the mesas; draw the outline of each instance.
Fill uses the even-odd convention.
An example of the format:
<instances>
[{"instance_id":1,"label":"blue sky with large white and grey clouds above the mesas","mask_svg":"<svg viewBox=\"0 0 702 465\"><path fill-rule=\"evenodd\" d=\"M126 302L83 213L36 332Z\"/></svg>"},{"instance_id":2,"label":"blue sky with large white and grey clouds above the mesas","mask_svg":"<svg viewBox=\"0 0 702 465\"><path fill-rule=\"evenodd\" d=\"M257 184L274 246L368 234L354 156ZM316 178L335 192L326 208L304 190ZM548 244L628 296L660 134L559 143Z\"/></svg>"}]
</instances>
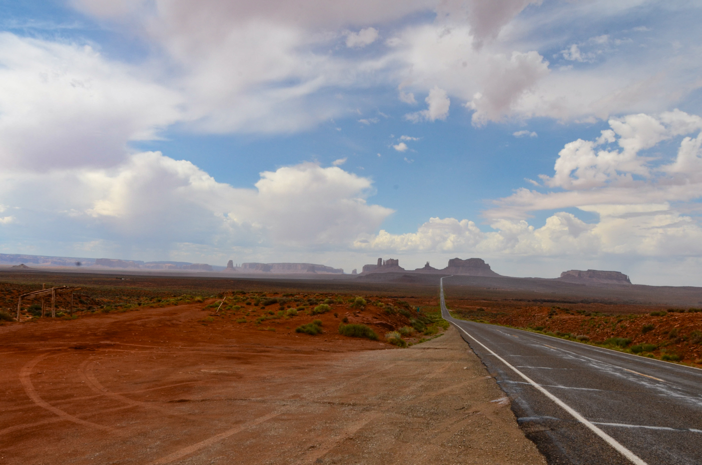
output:
<instances>
[{"instance_id":1,"label":"blue sky with large white and grey clouds above the mesas","mask_svg":"<svg viewBox=\"0 0 702 465\"><path fill-rule=\"evenodd\" d=\"M702 4L0 0L0 251L702 286Z\"/></svg>"}]
</instances>

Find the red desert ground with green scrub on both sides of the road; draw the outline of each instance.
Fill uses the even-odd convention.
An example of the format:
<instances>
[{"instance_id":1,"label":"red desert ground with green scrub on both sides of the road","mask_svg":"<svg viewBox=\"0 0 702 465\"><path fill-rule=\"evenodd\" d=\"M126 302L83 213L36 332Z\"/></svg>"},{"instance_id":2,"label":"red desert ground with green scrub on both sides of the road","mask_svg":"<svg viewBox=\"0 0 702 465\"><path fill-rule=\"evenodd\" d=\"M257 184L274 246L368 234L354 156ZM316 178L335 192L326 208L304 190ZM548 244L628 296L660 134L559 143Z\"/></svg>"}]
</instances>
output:
<instances>
[{"instance_id":1,"label":"red desert ground with green scrub on both sides of the road","mask_svg":"<svg viewBox=\"0 0 702 465\"><path fill-rule=\"evenodd\" d=\"M439 317L438 277L0 272L0 305L58 285L72 312L34 299L0 326L3 464L546 463ZM702 362L694 291L445 291L457 317Z\"/></svg>"}]
</instances>

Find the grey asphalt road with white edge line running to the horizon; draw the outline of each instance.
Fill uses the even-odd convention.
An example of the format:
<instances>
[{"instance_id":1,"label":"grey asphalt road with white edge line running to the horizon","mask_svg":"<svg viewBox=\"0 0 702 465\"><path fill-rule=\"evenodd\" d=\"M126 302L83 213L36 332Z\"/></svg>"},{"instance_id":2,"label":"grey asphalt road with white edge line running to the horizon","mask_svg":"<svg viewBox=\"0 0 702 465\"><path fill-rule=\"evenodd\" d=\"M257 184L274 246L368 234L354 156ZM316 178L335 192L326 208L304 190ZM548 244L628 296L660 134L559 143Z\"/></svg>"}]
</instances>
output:
<instances>
[{"instance_id":1,"label":"grey asphalt road with white edge line running to the horizon","mask_svg":"<svg viewBox=\"0 0 702 465\"><path fill-rule=\"evenodd\" d=\"M702 370L456 320L550 464L702 464Z\"/></svg>"}]
</instances>

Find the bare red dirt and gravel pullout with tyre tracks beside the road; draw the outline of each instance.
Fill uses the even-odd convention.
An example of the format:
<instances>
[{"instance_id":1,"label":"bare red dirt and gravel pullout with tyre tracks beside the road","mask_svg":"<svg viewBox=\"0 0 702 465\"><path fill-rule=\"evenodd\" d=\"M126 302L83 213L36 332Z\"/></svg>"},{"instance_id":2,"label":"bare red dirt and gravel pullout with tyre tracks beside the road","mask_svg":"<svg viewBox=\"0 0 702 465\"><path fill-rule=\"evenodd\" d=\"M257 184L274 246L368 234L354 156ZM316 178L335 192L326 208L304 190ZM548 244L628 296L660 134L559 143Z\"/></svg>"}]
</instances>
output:
<instances>
[{"instance_id":1,"label":"bare red dirt and gravel pullout with tyre tracks beside the road","mask_svg":"<svg viewBox=\"0 0 702 465\"><path fill-rule=\"evenodd\" d=\"M0 461L545 464L455 329L369 351L388 346L254 343L198 314L2 328Z\"/></svg>"}]
</instances>

